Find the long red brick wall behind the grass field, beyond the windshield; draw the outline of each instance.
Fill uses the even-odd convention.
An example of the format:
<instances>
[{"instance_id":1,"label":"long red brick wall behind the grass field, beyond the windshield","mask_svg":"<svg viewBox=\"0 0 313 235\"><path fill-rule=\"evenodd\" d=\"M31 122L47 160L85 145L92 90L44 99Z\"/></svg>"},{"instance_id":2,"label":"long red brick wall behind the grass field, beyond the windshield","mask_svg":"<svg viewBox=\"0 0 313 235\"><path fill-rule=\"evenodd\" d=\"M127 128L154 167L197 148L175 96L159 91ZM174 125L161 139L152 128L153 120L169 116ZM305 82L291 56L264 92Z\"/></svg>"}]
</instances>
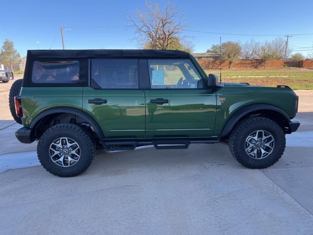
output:
<instances>
[{"instance_id":1,"label":"long red brick wall behind the grass field, beyond the windshield","mask_svg":"<svg viewBox=\"0 0 313 235\"><path fill-rule=\"evenodd\" d=\"M204 70L219 69L220 60L199 60L198 61ZM222 61L222 69L228 69L228 60ZM283 68L283 60L269 60L266 62L266 68ZM237 60L232 63L231 69L260 69L264 68L264 63L261 60Z\"/></svg>"}]
</instances>

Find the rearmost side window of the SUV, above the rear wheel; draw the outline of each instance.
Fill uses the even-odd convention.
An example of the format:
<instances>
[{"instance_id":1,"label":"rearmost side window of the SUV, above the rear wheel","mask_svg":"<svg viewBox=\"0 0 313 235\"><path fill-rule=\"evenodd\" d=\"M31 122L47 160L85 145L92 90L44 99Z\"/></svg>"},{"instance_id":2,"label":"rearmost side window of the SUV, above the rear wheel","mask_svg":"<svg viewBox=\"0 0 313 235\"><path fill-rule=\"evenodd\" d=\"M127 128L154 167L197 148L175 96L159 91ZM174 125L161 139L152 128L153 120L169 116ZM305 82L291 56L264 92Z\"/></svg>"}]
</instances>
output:
<instances>
[{"instance_id":1,"label":"rearmost side window of the SUV, above the rear wheel","mask_svg":"<svg viewBox=\"0 0 313 235\"><path fill-rule=\"evenodd\" d=\"M79 61L34 61L31 80L41 84L80 83Z\"/></svg>"}]
</instances>

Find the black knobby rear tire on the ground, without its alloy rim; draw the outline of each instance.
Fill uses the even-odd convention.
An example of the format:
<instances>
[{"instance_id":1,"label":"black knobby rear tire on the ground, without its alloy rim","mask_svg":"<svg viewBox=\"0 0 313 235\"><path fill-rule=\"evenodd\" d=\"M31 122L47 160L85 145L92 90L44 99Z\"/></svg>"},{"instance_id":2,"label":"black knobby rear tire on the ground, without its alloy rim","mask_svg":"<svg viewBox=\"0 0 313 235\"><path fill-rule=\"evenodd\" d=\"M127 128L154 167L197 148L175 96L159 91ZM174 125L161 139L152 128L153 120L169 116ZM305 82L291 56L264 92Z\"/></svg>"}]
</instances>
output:
<instances>
[{"instance_id":1,"label":"black knobby rear tire on the ground, without its alloy rim","mask_svg":"<svg viewBox=\"0 0 313 235\"><path fill-rule=\"evenodd\" d=\"M50 144L60 137L67 137L76 141L81 148L79 161L69 167L59 166L52 162L49 156ZM83 173L91 164L95 153L95 143L78 125L61 123L50 127L41 136L37 145L37 156L42 166L51 174L60 177L72 177Z\"/></svg>"}]
</instances>

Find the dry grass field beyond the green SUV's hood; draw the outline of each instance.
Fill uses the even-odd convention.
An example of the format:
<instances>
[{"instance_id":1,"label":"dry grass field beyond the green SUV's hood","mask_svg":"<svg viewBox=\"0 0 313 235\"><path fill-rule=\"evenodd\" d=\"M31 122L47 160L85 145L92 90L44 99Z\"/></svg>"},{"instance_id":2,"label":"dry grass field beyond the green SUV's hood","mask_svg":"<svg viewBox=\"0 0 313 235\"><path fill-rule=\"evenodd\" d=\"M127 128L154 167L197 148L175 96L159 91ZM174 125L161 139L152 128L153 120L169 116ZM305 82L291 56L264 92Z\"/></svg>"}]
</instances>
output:
<instances>
[{"instance_id":1,"label":"dry grass field beyond the green SUV's hood","mask_svg":"<svg viewBox=\"0 0 313 235\"><path fill-rule=\"evenodd\" d=\"M220 70L205 70L220 77ZM251 85L276 87L287 85L293 90L313 90L313 70L296 68L222 70L222 82L247 82Z\"/></svg>"}]
</instances>

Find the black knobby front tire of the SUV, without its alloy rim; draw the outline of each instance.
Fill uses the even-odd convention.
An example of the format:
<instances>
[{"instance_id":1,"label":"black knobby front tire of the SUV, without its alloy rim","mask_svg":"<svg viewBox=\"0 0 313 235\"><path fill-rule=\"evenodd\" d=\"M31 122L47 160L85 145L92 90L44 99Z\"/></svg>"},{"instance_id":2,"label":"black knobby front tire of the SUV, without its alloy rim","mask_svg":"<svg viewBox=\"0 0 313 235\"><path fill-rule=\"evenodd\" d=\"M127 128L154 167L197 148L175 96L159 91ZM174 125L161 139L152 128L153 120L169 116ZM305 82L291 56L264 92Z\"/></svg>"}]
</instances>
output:
<instances>
[{"instance_id":1,"label":"black knobby front tire of the SUV, without its alloy rim","mask_svg":"<svg viewBox=\"0 0 313 235\"><path fill-rule=\"evenodd\" d=\"M275 145L271 154L264 159L254 159L245 151L247 136L253 131L268 131L274 138ZM239 163L251 169L263 169L275 164L283 155L286 147L285 133L274 121L263 117L251 117L240 121L230 133L228 145L231 154Z\"/></svg>"}]
</instances>

